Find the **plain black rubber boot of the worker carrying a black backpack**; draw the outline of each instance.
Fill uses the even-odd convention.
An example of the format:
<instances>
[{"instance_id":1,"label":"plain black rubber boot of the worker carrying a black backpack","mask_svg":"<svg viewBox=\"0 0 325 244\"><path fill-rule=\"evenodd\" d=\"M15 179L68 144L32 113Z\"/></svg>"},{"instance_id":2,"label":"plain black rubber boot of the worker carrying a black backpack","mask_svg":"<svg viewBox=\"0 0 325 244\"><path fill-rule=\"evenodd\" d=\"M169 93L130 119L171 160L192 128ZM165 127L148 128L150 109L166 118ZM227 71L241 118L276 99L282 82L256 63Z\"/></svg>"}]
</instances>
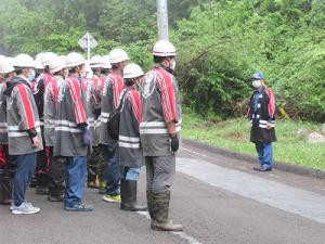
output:
<instances>
[{"instance_id":1,"label":"plain black rubber boot of the worker carrying a black backpack","mask_svg":"<svg viewBox=\"0 0 325 244\"><path fill-rule=\"evenodd\" d=\"M138 182L136 180L125 180L121 179L120 181L120 209L128 210L128 211L142 211L146 210L147 207L140 205L136 202L136 190L138 190Z\"/></svg>"}]
</instances>

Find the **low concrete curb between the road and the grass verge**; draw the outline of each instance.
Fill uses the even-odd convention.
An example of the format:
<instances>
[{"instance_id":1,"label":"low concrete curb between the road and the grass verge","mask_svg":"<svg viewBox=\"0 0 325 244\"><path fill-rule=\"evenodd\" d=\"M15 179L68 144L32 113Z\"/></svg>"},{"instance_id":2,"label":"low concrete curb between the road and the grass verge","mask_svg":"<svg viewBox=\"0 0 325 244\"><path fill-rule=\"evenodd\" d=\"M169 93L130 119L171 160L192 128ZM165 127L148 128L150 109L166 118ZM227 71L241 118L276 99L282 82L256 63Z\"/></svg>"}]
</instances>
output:
<instances>
[{"instance_id":1,"label":"low concrete curb between the road and the grass verge","mask_svg":"<svg viewBox=\"0 0 325 244\"><path fill-rule=\"evenodd\" d=\"M223 156L233 157L233 158L240 159L240 160L244 159L250 164L257 163L257 157L255 157L255 156L245 155L242 153L235 153L230 150L211 146L206 143L193 141L190 139L182 139L182 142L190 146L205 150L210 153L221 154ZM306 168L302 166L291 165L291 164L287 164L287 163L283 163L283 162L274 162L274 169L286 171L286 172L292 172L292 174L296 174L299 176L308 176L308 177L314 177L314 178L318 178L318 179L325 179L325 171L322 171L318 169Z\"/></svg>"}]
</instances>

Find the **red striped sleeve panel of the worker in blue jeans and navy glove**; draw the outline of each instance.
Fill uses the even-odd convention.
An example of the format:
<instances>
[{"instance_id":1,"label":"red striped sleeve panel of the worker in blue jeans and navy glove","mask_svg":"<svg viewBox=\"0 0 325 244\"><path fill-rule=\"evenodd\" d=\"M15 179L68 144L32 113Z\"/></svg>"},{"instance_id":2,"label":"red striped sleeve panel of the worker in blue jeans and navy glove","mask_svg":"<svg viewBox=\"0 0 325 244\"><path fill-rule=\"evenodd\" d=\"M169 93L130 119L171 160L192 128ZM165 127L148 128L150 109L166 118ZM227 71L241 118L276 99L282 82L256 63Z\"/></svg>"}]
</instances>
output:
<instances>
[{"instance_id":1,"label":"red striped sleeve panel of the worker in blue jeans and navy glove","mask_svg":"<svg viewBox=\"0 0 325 244\"><path fill-rule=\"evenodd\" d=\"M81 84L75 78L68 78L67 84L69 86L70 94L75 104L75 118L76 124L87 123L86 111L81 101Z\"/></svg>"}]
</instances>

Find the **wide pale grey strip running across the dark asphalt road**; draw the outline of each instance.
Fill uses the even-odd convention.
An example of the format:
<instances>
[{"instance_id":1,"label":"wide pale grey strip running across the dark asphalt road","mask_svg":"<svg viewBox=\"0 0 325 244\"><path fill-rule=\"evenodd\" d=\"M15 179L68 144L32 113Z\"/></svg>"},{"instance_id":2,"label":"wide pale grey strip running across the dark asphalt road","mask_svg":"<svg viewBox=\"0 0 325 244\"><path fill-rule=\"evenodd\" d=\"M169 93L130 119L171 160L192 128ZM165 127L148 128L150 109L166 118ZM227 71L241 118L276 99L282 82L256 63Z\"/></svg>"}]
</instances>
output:
<instances>
[{"instance_id":1,"label":"wide pale grey strip running across the dark asphalt road","mask_svg":"<svg viewBox=\"0 0 325 244\"><path fill-rule=\"evenodd\" d=\"M325 223L325 197L321 194L223 168L198 158L177 158L177 170L210 185Z\"/></svg>"}]
</instances>

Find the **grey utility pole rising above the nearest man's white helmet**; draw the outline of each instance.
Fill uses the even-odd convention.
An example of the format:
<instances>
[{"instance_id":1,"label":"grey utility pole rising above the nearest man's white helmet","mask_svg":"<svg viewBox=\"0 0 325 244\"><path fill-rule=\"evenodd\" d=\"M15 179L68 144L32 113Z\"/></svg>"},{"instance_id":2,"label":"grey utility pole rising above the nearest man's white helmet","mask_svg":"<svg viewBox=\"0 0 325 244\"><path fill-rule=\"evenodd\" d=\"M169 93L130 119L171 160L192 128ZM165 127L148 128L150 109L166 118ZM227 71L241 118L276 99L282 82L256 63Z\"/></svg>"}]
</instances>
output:
<instances>
[{"instance_id":1,"label":"grey utility pole rising above the nearest man's white helmet","mask_svg":"<svg viewBox=\"0 0 325 244\"><path fill-rule=\"evenodd\" d=\"M159 40L169 40L167 0L157 0L157 24Z\"/></svg>"}]
</instances>

